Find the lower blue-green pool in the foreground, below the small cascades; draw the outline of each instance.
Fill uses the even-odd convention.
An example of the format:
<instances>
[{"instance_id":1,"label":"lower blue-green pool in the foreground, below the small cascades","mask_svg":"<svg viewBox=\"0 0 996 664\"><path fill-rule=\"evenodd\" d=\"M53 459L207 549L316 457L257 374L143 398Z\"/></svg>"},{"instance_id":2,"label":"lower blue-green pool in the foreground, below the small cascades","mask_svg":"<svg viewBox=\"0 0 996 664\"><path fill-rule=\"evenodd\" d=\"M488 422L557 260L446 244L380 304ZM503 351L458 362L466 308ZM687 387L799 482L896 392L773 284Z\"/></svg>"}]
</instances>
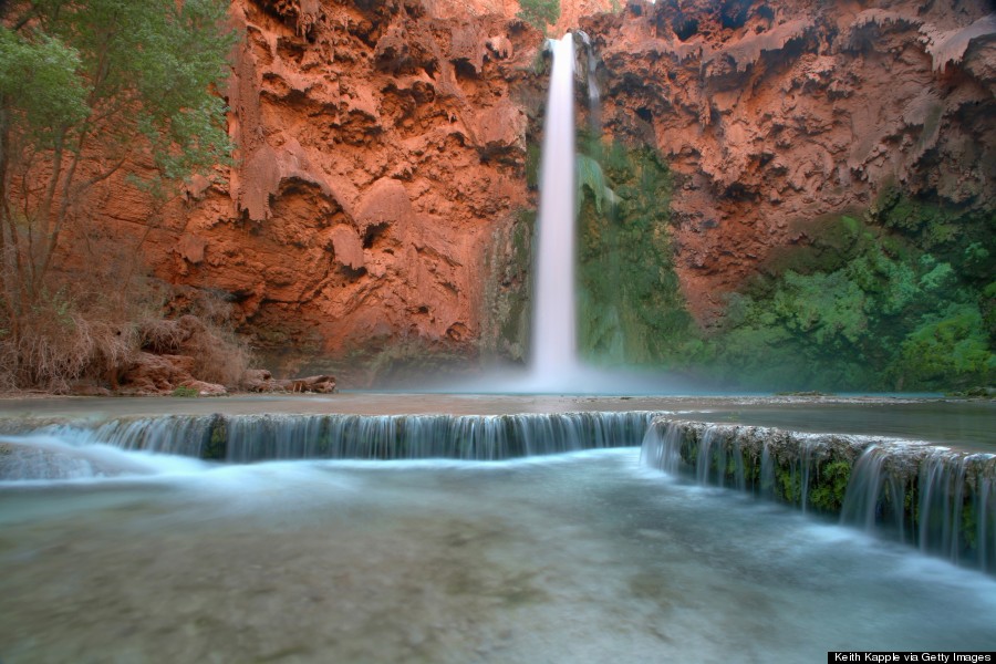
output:
<instances>
[{"instance_id":1,"label":"lower blue-green pool in the foreground, below the small cascades","mask_svg":"<svg viewBox=\"0 0 996 664\"><path fill-rule=\"evenodd\" d=\"M291 461L0 489L0 661L994 650L996 582L642 469Z\"/></svg>"}]
</instances>

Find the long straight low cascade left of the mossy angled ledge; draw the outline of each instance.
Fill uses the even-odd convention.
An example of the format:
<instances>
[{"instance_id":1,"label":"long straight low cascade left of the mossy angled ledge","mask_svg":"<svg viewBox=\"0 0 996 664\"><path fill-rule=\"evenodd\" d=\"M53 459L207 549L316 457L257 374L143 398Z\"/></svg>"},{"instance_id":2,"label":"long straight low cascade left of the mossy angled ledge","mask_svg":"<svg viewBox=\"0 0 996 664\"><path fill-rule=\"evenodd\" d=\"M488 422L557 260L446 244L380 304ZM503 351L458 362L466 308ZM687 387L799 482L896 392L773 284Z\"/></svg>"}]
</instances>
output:
<instances>
[{"instance_id":1,"label":"long straight low cascade left of the mossy angled ledge","mask_svg":"<svg viewBox=\"0 0 996 664\"><path fill-rule=\"evenodd\" d=\"M236 464L268 459L499 460L635 446L656 413L519 415L207 415L122 418L41 429L104 444Z\"/></svg>"}]
</instances>

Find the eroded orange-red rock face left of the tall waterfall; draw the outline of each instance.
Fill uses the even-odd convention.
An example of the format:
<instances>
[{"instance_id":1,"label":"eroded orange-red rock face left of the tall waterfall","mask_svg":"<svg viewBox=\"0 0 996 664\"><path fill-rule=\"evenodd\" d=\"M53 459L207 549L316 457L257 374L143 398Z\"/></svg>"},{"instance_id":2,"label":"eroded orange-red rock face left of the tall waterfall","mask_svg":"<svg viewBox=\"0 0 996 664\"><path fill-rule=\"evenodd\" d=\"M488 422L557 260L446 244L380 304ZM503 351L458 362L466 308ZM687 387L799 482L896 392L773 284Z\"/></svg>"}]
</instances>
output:
<instances>
[{"instance_id":1,"label":"eroded orange-red rock face left of the tall waterfall","mask_svg":"<svg viewBox=\"0 0 996 664\"><path fill-rule=\"evenodd\" d=\"M226 91L236 166L151 241L157 272L232 293L264 356L473 353L481 257L531 205L513 90L541 35L496 9L234 2L247 35ZM307 365L288 362L274 369Z\"/></svg>"}]
</instances>

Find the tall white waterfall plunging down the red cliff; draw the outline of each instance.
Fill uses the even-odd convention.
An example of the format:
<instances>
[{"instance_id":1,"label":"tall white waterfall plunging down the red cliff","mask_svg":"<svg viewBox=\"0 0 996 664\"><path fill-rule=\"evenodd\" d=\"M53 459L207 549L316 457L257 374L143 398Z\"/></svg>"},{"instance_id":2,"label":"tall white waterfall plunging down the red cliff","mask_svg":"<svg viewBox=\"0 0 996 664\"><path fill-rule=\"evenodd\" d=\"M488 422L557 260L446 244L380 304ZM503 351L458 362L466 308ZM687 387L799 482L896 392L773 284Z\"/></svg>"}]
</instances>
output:
<instances>
[{"instance_id":1,"label":"tall white waterfall plunging down the red cliff","mask_svg":"<svg viewBox=\"0 0 996 664\"><path fill-rule=\"evenodd\" d=\"M580 373L574 307L574 38L551 40L553 70L543 152L532 305L533 388L562 386Z\"/></svg>"}]
</instances>

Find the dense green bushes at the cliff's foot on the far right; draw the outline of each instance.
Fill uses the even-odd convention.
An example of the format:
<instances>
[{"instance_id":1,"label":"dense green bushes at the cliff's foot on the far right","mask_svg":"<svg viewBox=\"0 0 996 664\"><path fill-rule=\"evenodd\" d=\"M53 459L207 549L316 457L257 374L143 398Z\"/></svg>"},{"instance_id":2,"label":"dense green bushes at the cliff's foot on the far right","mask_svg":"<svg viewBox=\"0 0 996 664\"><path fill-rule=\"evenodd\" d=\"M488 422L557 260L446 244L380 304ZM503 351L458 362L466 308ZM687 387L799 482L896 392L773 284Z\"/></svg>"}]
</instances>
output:
<instances>
[{"instance_id":1,"label":"dense green bushes at the cliff's foot on the far right","mask_svg":"<svg viewBox=\"0 0 996 664\"><path fill-rule=\"evenodd\" d=\"M824 221L811 246L776 257L766 277L728 298L703 356L714 376L750 387L987 385L996 369L990 219L893 196L869 222Z\"/></svg>"}]
</instances>

